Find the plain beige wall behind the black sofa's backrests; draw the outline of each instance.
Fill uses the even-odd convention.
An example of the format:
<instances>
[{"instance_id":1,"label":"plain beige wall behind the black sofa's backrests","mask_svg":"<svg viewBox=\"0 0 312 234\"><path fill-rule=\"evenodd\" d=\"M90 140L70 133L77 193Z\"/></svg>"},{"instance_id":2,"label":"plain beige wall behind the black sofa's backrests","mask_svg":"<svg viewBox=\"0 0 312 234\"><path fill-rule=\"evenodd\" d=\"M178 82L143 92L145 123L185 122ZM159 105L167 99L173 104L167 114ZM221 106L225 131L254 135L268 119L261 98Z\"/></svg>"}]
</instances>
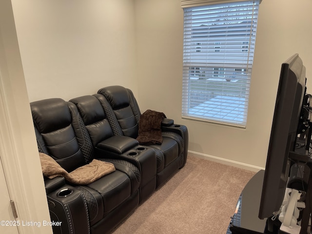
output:
<instances>
[{"instance_id":1,"label":"plain beige wall behind the black sofa's backrests","mask_svg":"<svg viewBox=\"0 0 312 234\"><path fill-rule=\"evenodd\" d=\"M30 101L137 94L133 0L12 0Z\"/></svg>"}]
</instances>

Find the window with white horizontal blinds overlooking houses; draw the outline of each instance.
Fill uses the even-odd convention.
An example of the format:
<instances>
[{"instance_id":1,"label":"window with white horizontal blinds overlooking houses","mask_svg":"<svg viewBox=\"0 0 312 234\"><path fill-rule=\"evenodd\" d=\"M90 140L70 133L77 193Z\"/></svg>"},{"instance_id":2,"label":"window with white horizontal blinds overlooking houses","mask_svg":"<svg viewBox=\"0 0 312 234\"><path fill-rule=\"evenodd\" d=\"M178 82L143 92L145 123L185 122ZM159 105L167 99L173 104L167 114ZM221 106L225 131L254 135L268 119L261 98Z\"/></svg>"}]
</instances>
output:
<instances>
[{"instance_id":1,"label":"window with white horizontal blinds overlooking houses","mask_svg":"<svg viewBox=\"0 0 312 234\"><path fill-rule=\"evenodd\" d=\"M181 2L182 117L246 127L259 0Z\"/></svg>"}]
</instances>

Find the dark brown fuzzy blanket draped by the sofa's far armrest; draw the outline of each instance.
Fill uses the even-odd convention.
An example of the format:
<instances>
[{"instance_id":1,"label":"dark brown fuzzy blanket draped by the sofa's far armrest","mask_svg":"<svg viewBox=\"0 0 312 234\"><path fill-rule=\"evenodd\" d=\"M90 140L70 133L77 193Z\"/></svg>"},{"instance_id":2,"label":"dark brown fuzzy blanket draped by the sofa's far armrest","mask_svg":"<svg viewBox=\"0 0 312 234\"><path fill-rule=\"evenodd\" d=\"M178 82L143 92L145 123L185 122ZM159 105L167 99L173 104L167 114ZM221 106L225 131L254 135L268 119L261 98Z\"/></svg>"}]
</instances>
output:
<instances>
[{"instance_id":1,"label":"dark brown fuzzy blanket draped by the sofa's far armrest","mask_svg":"<svg viewBox=\"0 0 312 234\"><path fill-rule=\"evenodd\" d=\"M142 145L161 144L161 121L165 117L162 112L145 111L138 121L137 141Z\"/></svg>"}]
</instances>

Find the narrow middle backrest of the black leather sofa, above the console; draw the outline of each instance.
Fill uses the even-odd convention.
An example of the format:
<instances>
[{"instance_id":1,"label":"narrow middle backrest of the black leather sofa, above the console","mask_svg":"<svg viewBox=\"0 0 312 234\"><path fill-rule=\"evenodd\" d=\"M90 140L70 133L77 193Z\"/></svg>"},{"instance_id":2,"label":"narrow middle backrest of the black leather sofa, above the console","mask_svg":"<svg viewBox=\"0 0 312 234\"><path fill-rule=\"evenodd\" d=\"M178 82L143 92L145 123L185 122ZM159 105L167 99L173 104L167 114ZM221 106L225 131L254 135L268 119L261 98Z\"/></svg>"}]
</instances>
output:
<instances>
[{"instance_id":1,"label":"narrow middle backrest of the black leather sofa, above the console","mask_svg":"<svg viewBox=\"0 0 312 234\"><path fill-rule=\"evenodd\" d=\"M77 106L78 112L88 130L94 147L102 140L114 136L113 130L98 98L87 95L73 98L69 101Z\"/></svg>"}]
</instances>

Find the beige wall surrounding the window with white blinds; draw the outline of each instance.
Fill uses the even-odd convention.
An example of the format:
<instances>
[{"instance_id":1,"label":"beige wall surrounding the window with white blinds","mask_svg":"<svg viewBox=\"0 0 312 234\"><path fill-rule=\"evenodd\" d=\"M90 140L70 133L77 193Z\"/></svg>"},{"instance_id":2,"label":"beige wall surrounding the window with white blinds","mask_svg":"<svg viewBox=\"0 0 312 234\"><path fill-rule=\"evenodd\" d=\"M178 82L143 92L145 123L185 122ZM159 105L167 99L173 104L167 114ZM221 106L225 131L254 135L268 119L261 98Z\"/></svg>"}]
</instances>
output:
<instances>
[{"instance_id":1,"label":"beige wall surrounding the window with white blinds","mask_svg":"<svg viewBox=\"0 0 312 234\"><path fill-rule=\"evenodd\" d=\"M246 129L238 129L181 119L180 0L136 0L141 109L163 111L185 124L189 150L197 155L264 168L280 66L292 54L299 53L307 66L312 90L311 7L311 0L263 0L260 4L248 122Z\"/></svg>"}]
</instances>

